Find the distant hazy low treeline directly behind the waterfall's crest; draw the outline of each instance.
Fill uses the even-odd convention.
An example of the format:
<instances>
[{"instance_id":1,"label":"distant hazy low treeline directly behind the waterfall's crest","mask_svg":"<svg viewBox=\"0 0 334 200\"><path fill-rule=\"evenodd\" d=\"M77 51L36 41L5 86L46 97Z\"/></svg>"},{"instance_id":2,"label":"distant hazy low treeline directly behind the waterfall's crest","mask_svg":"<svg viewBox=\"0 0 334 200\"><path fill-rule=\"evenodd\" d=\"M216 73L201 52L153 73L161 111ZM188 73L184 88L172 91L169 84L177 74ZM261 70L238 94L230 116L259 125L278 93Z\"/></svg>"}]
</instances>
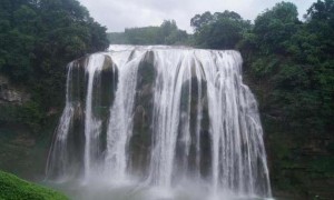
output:
<instances>
[{"instance_id":1,"label":"distant hazy low treeline directly behind the waterfall's crest","mask_svg":"<svg viewBox=\"0 0 334 200\"><path fill-rule=\"evenodd\" d=\"M160 27L126 29L125 32L110 32L112 44L188 44L188 34L179 30L174 20L165 20Z\"/></svg>"}]
</instances>

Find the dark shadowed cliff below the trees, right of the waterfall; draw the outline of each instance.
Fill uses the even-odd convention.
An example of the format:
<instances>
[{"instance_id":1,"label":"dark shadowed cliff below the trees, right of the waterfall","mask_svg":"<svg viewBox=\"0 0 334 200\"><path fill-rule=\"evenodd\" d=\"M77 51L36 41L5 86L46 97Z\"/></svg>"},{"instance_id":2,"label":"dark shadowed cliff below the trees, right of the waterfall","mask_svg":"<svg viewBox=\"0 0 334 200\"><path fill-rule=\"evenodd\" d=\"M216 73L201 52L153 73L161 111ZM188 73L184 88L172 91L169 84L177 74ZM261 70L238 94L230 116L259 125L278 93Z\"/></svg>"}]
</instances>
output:
<instances>
[{"instance_id":1,"label":"dark shadowed cliff below the trees, right of the waterfall","mask_svg":"<svg viewBox=\"0 0 334 200\"><path fill-rule=\"evenodd\" d=\"M274 91L271 83L252 79L247 70L245 74L245 82L259 104L273 196L294 200L333 199L333 130L315 132L306 123L299 129L291 127L295 121L286 121L284 109L271 99Z\"/></svg>"}]
</instances>

